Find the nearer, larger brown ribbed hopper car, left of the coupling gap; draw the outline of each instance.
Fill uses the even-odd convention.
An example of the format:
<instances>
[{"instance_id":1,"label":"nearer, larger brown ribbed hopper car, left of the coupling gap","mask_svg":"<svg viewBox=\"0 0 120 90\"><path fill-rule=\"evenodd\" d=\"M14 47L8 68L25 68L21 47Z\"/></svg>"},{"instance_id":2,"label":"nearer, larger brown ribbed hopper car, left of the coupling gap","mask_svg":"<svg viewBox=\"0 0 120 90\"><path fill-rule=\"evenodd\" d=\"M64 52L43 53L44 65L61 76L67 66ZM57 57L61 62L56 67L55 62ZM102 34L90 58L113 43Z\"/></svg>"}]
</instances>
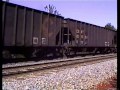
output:
<instances>
[{"instance_id":1,"label":"nearer, larger brown ribbed hopper car, left of the coupling gap","mask_svg":"<svg viewBox=\"0 0 120 90\"><path fill-rule=\"evenodd\" d=\"M3 56L54 55L61 47L63 17L2 1Z\"/></svg>"}]
</instances>

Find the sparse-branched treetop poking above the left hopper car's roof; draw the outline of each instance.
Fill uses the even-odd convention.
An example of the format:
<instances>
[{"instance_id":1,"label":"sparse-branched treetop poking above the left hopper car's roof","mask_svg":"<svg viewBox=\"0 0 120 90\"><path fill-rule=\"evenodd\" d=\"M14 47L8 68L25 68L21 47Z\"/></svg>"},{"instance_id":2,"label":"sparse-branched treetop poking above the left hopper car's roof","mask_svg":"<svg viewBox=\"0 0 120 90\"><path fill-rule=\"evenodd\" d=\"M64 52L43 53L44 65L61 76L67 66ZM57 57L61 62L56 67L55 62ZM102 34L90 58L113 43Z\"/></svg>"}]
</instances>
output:
<instances>
[{"instance_id":1,"label":"sparse-branched treetop poking above the left hopper car's roof","mask_svg":"<svg viewBox=\"0 0 120 90\"><path fill-rule=\"evenodd\" d=\"M61 16L61 14L56 10L56 7L55 6L53 6L53 5L46 5L45 7L44 7L44 9L48 12L48 13L51 13L51 14L55 14L55 15L60 15Z\"/></svg>"}]
</instances>

